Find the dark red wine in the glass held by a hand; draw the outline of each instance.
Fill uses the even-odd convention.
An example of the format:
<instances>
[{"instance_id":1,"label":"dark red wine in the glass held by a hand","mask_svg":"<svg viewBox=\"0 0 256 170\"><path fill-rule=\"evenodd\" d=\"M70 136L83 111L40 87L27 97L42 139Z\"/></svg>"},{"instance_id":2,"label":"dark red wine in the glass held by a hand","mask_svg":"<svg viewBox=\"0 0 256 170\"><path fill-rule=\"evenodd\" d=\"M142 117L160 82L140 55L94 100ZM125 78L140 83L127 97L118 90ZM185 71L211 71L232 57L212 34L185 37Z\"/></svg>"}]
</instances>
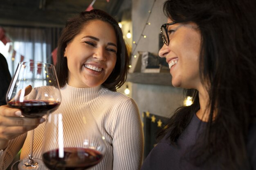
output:
<instances>
[{"instance_id":1,"label":"dark red wine in the glass held by a hand","mask_svg":"<svg viewBox=\"0 0 256 170\"><path fill-rule=\"evenodd\" d=\"M22 115L27 118L39 118L44 116L47 111L57 109L61 102L48 100L24 100L11 101L7 105L13 108L18 108L22 111Z\"/></svg>"}]
</instances>

